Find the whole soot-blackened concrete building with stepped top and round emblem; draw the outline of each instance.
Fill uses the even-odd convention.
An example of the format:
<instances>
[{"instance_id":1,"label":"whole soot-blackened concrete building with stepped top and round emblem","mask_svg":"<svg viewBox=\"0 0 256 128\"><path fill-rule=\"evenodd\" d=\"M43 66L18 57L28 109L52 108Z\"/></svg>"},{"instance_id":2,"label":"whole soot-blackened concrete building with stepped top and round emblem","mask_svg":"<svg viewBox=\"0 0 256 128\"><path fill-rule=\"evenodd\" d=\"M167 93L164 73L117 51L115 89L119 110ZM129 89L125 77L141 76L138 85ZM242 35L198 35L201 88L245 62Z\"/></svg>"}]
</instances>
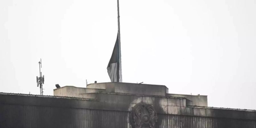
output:
<instances>
[{"instance_id":1,"label":"whole soot-blackened concrete building with stepped top and round emblem","mask_svg":"<svg viewBox=\"0 0 256 128\"><path fill-rule=\"evenodd\" d=\"M256 112L211 108L207 96L169 94L163 85L109 82L54 96L0 93L0 127L256 128Z\"/></svg>"}]
</instances>

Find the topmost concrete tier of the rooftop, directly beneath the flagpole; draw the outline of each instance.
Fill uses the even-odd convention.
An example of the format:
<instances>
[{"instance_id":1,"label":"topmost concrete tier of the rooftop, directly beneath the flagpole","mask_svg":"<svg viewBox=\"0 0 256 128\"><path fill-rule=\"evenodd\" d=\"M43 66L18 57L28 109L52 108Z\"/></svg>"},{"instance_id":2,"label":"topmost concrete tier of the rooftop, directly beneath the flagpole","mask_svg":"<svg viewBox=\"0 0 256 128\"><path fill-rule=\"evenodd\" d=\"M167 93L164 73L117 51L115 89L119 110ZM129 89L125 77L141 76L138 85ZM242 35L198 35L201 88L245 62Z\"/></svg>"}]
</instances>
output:
<instances>
[{"instance_id":1,"label":"topmost concrete tier of the rooftop, directly beneath the flagpole","mask_svg":"<svg viewBox=\"0 0 256 128\"><path fill-rule=\"evenodd\" d=\"M87 88L106 89L106 92L154 95L154 96L166 96L166 93L168 93L168 88L164 85L120 83L120 82L88 84Z\"/></svg>"}]
</instances>

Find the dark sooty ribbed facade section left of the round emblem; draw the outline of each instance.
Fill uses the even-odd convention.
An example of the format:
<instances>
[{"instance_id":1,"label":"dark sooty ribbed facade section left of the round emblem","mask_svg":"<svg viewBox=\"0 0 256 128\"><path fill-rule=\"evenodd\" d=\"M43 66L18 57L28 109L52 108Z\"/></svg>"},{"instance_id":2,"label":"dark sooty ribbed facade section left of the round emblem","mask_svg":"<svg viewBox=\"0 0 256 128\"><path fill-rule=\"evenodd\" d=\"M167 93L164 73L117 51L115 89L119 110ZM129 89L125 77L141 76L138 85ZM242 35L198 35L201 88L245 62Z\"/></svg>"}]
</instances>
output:
<instances>
[{"instance_id":1,"label":"dark sooty ribbed facade section left of the round emblem","mask_svg":"<svg viewBox=\"0 0 256 128\"><path fill-rule=\"evenodd\" d=\"M129 112L0 104L1 128L130 128Z\"/></svg>"}]
</instances>

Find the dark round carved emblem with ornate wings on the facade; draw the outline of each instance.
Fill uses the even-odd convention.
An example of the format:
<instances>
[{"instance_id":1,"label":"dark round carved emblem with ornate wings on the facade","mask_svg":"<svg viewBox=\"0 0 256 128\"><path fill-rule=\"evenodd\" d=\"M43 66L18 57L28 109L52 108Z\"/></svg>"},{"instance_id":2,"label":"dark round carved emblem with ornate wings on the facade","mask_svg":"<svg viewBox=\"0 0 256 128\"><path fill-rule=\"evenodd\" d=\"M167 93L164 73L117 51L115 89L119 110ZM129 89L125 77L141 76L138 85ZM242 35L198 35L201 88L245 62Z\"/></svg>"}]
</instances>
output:
<instances>
[{"instance_id":1,"label":"dark round carved emblem with ornate wings on the facade","mask_svg":"<svg viewBox=\"0 0 256 128\"><path fill-rule=\"evenodd\" d=\"M132 128L155 128L157 115L154 107L149 104L136 104L130 114Z\"/></svg>"}]
</instances>

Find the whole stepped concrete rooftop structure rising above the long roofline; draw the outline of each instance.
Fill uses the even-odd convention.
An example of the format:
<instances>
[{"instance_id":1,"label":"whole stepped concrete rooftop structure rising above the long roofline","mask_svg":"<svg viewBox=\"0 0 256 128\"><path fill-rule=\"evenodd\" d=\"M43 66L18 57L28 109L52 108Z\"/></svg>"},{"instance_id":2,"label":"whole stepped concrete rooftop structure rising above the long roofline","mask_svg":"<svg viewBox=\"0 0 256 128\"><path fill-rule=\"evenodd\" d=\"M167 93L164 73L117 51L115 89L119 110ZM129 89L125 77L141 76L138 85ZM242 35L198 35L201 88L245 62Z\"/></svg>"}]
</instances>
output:
<instances>
[{"instance_id":1,"label":"whole stepped concrete rooftop structure rising above the long roofline","mask_svg":"<svg viewBox=\"0 0 256 128\"><path fill-rule=\"evenodd\" d=\"M118 94L134 94L147 96L166 96L166 97L183 97L187 98L187 105L191 106L207 106L207 96L182 95L182 94L168 94L168 88L162 85L150 84L134 84L134 83L95 83L89 84L87 88L80 88L75 86L64 86L53 90L54 96L69 96L69 97L84 97L90 98L90 95L85 93L118 93ZM190 101L189 101L190 100Z\"/></svg>"}]
</instances>

